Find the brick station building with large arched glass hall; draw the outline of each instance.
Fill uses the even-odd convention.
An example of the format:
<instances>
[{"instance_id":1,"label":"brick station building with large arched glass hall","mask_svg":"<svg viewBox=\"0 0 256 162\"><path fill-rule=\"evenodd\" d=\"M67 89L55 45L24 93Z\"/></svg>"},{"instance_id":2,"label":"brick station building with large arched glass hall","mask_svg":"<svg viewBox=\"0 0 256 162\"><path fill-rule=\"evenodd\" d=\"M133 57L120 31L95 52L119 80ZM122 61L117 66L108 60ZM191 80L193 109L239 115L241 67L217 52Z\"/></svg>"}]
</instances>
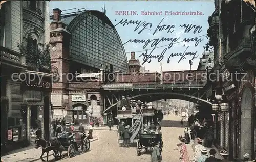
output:
<instances>
[{"instance_id":1,"label":"brick station building with large arched glass hall","mask_svg":"<svg viewBox=\"0 0 256 162\"><path fill-rule=\"evenodd\" d=\"M50 19L51 63L61 75L53 84L53 117L75 124L98 119L103 124L101 83L109 82L114 72L128 72L114 25L96 10L61 14L53 9Z\"/></svg>"}]
</instances>

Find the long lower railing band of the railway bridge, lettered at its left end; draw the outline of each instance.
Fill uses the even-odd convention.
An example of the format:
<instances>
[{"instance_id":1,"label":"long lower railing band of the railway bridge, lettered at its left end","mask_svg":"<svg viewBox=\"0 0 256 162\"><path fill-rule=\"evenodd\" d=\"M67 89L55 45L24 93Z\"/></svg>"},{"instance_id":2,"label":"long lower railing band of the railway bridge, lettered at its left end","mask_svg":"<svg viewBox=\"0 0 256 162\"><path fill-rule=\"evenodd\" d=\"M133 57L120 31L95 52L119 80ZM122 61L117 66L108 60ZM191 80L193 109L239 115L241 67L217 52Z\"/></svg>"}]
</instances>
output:
<instances>
[{"instance_id":1,"label":"long lower railing band of the railway bridge, lettered at its left end","mask_svg":"<svg viewBox=\"0 0 256 162\"><path fill-rule=\"evenodd\" d=\"M109 89L154 89L154 88L184 88L184 87L203 87L206 81L192 81L192 82L172 82L172 83L160 83L160 82L143 82L143 83L114 83L104 84L103 88Z\"/></svg>"}]
</instances>

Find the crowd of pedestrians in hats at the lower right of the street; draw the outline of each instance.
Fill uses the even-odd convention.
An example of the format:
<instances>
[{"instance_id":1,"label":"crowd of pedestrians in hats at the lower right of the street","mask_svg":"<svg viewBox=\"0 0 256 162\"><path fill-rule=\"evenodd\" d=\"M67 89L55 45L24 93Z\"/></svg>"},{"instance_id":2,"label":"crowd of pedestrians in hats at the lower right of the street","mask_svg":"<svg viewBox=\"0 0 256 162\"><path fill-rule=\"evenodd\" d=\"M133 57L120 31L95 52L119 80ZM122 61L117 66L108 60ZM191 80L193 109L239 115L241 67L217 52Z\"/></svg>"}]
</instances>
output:
<instances>
[{"instance_id":1,"label":"crowd of pedestrians in hats at the lower right of the street","mask_svg":"<svg viewBox=\"0 0 256 162\"><path fill-rule=\"evenodd\" d=\"M183 127L183 120L180 121L181 126ZM191 122L191 118L189 120L190 125L186 125L184 129L184 137L179 136L179 140L181 143L177 144L179 146L180 151L180 162L209 162L209 161L222 161L215 157L216 150L212 148L214 142L214 128L211 126L211 123L208 123L206 119L200 121L199 119L195 119L194 122ZM195 152L193 155L193 159L189 159L187 146L186 144L190 143L190 140L195 140L197 138L197 144L195 145ZM207 148L211 148L208 150ZM220 154L222 156L227 156L228 152L226 149L221 149ZM250 154L246 153L243 155L243 161L249 161ZM256 159L254 160L256 162Z\"/></svg>"}]
</instances>

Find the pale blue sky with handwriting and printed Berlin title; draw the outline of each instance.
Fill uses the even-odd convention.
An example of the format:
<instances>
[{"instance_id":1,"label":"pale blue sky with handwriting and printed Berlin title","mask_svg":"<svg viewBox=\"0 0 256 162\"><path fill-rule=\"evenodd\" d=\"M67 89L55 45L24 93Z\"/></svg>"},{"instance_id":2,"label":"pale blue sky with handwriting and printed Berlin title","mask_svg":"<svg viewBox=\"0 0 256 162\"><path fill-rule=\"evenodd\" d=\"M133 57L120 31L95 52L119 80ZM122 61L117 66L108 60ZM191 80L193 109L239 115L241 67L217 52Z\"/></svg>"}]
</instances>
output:
<instances>
[{"instance_id":1,"label":"pale blue sky with handwriting and printed Berlin title","mask_svg":"<svg viewBox=\"0 0 256 162\"><path fill-rule=\"evenodd\" d=\"M62 12L68 13L80 8L102 11L103 6L106 16L116 25L128 60L135 51L140 64L150 72L189 70L189 60L193 62L191 69L197 69L203 46L208 42L207 20L215 10L214 1L50 1L50 14L54 8L62 11L76 8ZM134 15L117 15L122 11L134 11ZM145 15L147 12L160 15ZM132 21L138 25L129 23Z\"/></svg>"}]
</instances>

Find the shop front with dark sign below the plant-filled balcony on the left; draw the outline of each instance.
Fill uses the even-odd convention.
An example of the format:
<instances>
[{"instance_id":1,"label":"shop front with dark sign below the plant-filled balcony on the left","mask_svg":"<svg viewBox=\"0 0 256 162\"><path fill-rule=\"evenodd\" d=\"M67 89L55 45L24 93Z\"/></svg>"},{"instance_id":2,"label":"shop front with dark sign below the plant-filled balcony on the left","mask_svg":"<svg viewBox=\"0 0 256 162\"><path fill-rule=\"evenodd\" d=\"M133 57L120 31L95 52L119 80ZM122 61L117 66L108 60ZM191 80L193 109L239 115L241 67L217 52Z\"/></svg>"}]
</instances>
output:
<instances>
[{"instance_id":1,"label":"shop front with dark sign below the plant-filled balcony on the left","mask_svg":"<svg viewBox=\"0 0 256 162\"><path fill-rule=\"evenodd\" d=\"M33 75L30 76L30 75ZM51 75L35 75L27 73L27 78L22 85L22 132L29 143L34 143L35 133L41 127L43 136L46 140L51 137ZM29 78L33 78L29 80ZM41 78L41 79L39 79ZM25 135L26 134L26 135Z\"/></svg>"}]
</instances>

